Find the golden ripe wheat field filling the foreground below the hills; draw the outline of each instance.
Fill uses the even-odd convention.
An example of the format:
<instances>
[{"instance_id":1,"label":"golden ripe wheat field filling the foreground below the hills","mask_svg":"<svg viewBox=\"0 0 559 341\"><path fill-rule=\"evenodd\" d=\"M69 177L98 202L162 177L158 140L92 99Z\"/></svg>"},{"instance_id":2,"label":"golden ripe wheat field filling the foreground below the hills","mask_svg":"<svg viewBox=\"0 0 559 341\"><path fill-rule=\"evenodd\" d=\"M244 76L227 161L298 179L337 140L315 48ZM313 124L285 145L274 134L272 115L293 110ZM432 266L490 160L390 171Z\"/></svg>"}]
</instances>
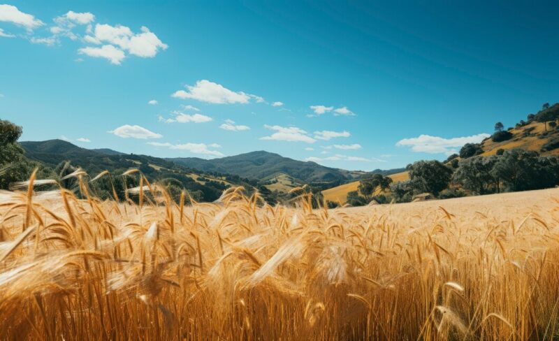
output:
<instances>
[{"instance_id":1,"label":"golden ripe wheat field filling the foreground below the hills","mask_svg":"<svg viewBox=\"0 0 559 341\"><path fill-rule=\"evenodd\" d=\"M559 335L558 189L312 210L184 205L133 171L129 201L99 201L73 175L0 192L0 340Z\"/></svg>"}]
</instances>

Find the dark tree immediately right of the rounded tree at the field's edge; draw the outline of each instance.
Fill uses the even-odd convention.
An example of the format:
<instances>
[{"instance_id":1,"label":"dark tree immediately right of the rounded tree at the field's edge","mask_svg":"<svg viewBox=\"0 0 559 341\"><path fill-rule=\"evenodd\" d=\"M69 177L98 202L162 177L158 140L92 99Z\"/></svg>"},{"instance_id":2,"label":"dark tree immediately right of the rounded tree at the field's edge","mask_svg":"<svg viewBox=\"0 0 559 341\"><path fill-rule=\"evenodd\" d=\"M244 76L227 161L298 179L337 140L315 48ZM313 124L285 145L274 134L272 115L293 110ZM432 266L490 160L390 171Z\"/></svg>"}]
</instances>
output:
<instances>
[{"instance_id":1,"label":"dark tree immediately right of the rounded tree at the field's edge","mask_svg":"<svg viewBox=\"0 0 559 341\"><path fill-rule=\"evenodd\" d=\"M488 194L499 191L499 180L491 172L498 157L470 157L460 161L452 175L453 182L474 194Z\"/></svg>"}]
</instances>

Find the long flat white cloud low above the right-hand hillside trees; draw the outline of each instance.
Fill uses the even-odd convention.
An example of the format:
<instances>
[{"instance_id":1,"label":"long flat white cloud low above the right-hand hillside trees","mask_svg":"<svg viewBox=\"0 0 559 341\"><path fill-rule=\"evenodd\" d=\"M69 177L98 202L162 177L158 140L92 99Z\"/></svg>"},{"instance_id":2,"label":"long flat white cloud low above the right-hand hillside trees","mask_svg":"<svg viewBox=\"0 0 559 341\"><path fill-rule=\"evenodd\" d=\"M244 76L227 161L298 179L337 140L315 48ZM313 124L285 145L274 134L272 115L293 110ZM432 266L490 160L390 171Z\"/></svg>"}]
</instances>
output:
<instances>
[{"instance_id":1,"label":"long flat white cloud low above the right-hand hillside trees","mask_svg":"<svg viewBox=\"0 0 559 341\"><path fill-rule=\"evenodd\" d=\"M398 147L411 147L414 152L423 152L429 154L453 154L456 148L462 147L466 143L480 143L484 138L488 138L489 134L479 133L477 135L465 136L460 138L441 138L438 136L420 135L416 138L404 138L399 140L396 145Z\"/></svg>"}]
</instances>

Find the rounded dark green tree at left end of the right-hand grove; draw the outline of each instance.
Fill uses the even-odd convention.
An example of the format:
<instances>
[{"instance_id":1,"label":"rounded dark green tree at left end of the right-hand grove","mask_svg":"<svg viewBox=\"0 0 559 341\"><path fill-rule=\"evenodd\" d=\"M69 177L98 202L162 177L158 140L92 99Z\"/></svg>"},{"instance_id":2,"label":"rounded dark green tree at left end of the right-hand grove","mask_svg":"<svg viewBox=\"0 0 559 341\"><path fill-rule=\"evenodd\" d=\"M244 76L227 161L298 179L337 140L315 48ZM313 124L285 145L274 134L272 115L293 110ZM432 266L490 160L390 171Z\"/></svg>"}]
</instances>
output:
<instances>
[{"instance_id":1,"label":"rounded dark green tree at left end of the right-hand grove","mask_svg":"<svg viewBox=\"0 0 559 341\"><path fill-rule=\"evenodd\" d=\"M435 196L449 186L452 176L451 168L437 160L416 161L407 169L414 189L433 193Z\"/></svg>"}]
</instances>

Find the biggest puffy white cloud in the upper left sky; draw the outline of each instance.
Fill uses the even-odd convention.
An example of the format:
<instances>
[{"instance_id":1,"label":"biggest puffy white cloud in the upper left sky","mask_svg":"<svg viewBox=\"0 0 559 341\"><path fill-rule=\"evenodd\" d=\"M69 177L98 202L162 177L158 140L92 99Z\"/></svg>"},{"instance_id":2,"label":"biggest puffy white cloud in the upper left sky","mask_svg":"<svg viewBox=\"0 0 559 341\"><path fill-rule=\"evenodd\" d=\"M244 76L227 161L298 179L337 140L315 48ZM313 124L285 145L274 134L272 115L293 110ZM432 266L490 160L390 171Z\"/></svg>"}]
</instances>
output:
<instances>
[{"instance_id":1,"label":"biggest puffy white cloud in the upper left sky","mask_svg":"<svg viewBox=\"0 0 559 341\"><path fill-rule=\"evenodd\" d=\"M168 45L163 43L150 29L141 27L142 33L134 34L126 26L96 24L94 36L85 36L88 43L101 44L103 42L117 45L122 50L142 58L152 58L159 50L166 50Z\"/></svg>"}]
</instances>

